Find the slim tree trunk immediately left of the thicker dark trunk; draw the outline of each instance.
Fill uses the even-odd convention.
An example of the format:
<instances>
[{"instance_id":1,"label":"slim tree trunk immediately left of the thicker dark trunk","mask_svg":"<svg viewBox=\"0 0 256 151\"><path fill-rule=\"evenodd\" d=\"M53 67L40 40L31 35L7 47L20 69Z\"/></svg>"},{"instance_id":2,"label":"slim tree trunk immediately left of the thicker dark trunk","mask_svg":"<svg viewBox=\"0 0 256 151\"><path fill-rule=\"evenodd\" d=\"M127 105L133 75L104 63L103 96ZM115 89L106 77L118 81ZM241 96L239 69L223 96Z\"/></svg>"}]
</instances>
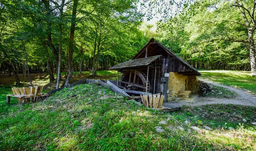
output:
<instances>
[{"instance_id":1,"label":"slim tree trunk immediately left of the thicker dark trunk","mask_svg":"<svg viewBox=\"0 0 256 151\"><path fill-rule=\"evenodd\" d=\"M60 20L62 21L63 8L64 8L65 0L61 0L61 14ZM60 80L61 80L61 49L62 49L62 23L60 23L60 36L59 36L59 52L58 52L58 70L57 70L57 84L56 89L59 88Z\"/></svg>"}]
</instances>

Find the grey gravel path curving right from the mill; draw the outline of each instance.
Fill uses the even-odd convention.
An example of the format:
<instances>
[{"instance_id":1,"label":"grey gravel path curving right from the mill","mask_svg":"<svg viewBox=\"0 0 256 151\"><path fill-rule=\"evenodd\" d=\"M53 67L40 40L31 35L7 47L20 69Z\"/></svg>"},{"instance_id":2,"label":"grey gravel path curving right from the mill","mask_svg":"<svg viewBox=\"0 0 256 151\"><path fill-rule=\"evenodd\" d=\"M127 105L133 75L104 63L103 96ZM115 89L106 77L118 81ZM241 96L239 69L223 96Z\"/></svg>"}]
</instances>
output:
<instances>
[{"instance_id":1,"label":"grey gravel path curving right from the mill","mask_svg":"<svg viewBox=\"0 0 256 151\"><path fill-rule=\"evenodd\" d=\"M189 106L200 106L200 105L206 105L206 104L237 104L237 105L246 105L246 106L256 106L256 96L255 95L251 95L248 92L243 91L242 89L225 86L223 84L218 84L218 83L215 83L212 81L207 81L204 79L200 79L200 80L210 83L212 85L218 86L218 87L230 89L230 91L236 92L237 97L228 99L228 98L196 97L194 95L194 96L192 96L192 98L194 97L194 99L192 101L183 100L183 101L180 101L179 103L182 103L183 105L189 105Z\"/></svg>"}]
</instances>

